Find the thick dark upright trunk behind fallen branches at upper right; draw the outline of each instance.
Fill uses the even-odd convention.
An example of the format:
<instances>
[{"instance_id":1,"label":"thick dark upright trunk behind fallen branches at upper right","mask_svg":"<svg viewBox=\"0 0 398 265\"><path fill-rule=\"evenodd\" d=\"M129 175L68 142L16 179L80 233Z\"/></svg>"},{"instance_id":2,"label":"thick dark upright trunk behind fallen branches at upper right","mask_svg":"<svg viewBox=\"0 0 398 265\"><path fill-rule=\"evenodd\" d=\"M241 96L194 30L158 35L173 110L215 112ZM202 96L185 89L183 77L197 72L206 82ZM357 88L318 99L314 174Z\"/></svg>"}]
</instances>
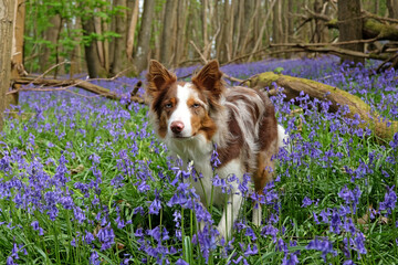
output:
<instances>
[{"instance_id":1,"label":"thick dark upright trunk behind fallen branches at upper right","mask_svg":"<svg viewBox=\"0 0 398 265\"><path fill-rule=\"evenodd\" d=\"M363 39L363 19L360 13L360 0L338 1L338 41L353 41ZM364 52L364 43L347 44L342 46L352 51ZM342 61L365 62L364 59L343 56Z\"/></svg>"}]
</instances>

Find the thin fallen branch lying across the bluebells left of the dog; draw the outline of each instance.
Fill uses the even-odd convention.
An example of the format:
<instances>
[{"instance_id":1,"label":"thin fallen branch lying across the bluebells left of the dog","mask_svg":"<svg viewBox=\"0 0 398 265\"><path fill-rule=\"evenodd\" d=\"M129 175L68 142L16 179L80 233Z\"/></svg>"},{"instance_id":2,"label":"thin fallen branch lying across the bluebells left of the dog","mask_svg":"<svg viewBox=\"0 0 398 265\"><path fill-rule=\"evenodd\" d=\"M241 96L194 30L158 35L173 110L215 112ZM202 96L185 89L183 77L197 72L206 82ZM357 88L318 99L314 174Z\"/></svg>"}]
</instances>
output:
<instances>
[{"instance_id":1,"label":"thin fallen branch lying across the bluebells left of the dog","mask_svg":"<svg viewBox=\"0 0 398 265\"><path fill-rule=\"evenodd\" d=\"M98 96L102 97L106 97L109 99L114 99L114 100L121 100L122 99L122 95L117 94L115 92L112 92L105 87L92 84L87 81L82 81L82 80L45 80L45 78L34 78L34 77L20 77L20 78L15 78L12 80L13 84L20 84L20 85L36 85L36 86L42 86L42 87L62 87L61 89L40 89L40 88L24 88L24 87L20 87L18 89L11 91L8 94L13 94L13 93L18 93L21 91L34 91L34 92L44 92L44 91L62 91L62 89L69 89L72 87L78 87L82 88L84 91L94 93ZM138 87L135 87L132 95L130 95L130 100L132 102L136 102L136 103L140 103L144 104L145 100L144 98L136 96L135 94L137 93L139 86L142 83L137 83Z\"/></svg>"}]
</instances>

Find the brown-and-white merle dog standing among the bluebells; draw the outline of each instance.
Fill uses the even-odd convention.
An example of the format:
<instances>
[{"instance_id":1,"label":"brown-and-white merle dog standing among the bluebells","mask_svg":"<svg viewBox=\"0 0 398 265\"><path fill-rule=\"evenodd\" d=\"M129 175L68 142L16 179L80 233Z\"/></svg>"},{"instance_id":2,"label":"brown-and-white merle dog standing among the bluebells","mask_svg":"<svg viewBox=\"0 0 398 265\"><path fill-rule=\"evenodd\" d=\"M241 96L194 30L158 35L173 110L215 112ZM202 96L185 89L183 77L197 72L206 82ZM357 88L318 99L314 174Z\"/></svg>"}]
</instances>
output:
<instances>
[{"instance_id":1,"label":"brown-and-white merle dog standing among the bluebells","mask_svg":"<svg viewBox=\"0 0 398 265\"><path fill-rule=\"evenodd\" d=\"M219 178L232 174L242 180L249 172L255 192L261 194L272 180L273 161L283 145L284 129L277 125L271 100L261 92L234 86L227 88L217 61L209 62L192 82L178 82L159 62L150 61L147 74L149 116L167 147L186 163L193 161L200 181L190 179L201 203L224 204L226 194L212 188L210 158L217 146ZM237 220L242 195L238 183L228 194L218 225L220 237L228 239ZM213 192L211 190L213 189ZM261 224L261 208L253 210L253 223ZM203 224L200 224L202 227Z\"/></svg>"}]
</instances>

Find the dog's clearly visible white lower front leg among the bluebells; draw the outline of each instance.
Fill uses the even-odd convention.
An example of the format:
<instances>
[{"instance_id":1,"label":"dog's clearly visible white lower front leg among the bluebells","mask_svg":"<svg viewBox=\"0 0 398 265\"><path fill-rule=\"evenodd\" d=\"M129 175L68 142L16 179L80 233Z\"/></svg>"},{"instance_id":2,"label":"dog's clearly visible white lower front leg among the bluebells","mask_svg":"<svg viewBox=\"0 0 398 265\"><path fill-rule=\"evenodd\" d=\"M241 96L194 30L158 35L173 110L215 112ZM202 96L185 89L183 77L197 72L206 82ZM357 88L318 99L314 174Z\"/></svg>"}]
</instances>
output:
<instances>
[{"instance_id":1,"label":"dog's clearly visible white lower front leg among the bluebells","mask_svg":"<svg viewBox=\"0 0 398 265\"><path fill-rule=\"evenodd\" d=\"M220 232L220 239L223 237L226 241L231 237L232 226L237 221L239 210L243 200L242 195L239 192L233 192L227 195L227 205L224 205L223 208L221 221L217 227Z\"/></svg>"}]
</instances>

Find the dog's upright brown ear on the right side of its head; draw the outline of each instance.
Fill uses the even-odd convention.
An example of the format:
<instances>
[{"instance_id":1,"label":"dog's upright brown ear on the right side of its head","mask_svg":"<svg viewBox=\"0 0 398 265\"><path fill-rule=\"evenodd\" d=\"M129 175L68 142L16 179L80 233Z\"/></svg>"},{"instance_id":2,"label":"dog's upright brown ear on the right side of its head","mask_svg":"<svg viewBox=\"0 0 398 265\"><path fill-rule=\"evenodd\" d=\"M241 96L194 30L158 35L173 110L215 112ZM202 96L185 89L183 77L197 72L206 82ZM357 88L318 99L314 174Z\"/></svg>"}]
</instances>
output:
<instances>
[{"instance_id":1,"label":"dog's upright brown ear on the right side of its head","mask_svg":"<svg viewBox=\"0 0 398 265\"><path fill-rule=\"evenodd\" d=\"M192 77L192 83L199 88L210 91L218 98L224 89L221 77L220 65L217 60L213 60Z\"/></svg>"}]
</instances>

